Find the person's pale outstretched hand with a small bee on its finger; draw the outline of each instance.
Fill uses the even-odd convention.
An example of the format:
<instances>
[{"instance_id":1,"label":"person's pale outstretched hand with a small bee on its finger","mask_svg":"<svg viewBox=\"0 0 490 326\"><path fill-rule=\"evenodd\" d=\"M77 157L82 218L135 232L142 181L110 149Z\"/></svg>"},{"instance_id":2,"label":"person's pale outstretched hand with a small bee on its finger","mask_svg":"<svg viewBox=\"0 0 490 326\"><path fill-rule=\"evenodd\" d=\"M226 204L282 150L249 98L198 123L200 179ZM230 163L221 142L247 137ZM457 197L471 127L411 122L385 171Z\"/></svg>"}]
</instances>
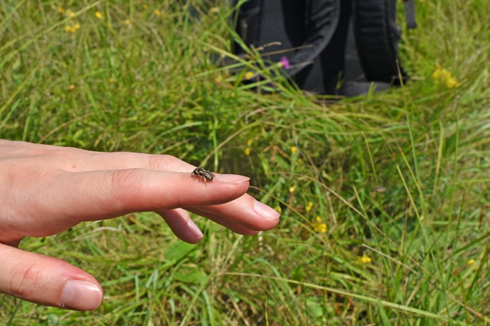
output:
<instances>
[{"instance_id":1,"label":"person's pale outstretched hand with a small bee on its finger","mask_svg":"<svg viewBox=\"0 0 490 326\"><path fill-rule=\"evenodd\" d=\"M82 221L153 211L179 239L203 235L189 212L231 231L254 235L277 225L279 213L246 194L249 178L215 174L205 185L196 167L170 155L91 152L0 140L0 293L37 304L94 310L98 281L57 258L18 248Z\"/></svg>"}]
</instances>

